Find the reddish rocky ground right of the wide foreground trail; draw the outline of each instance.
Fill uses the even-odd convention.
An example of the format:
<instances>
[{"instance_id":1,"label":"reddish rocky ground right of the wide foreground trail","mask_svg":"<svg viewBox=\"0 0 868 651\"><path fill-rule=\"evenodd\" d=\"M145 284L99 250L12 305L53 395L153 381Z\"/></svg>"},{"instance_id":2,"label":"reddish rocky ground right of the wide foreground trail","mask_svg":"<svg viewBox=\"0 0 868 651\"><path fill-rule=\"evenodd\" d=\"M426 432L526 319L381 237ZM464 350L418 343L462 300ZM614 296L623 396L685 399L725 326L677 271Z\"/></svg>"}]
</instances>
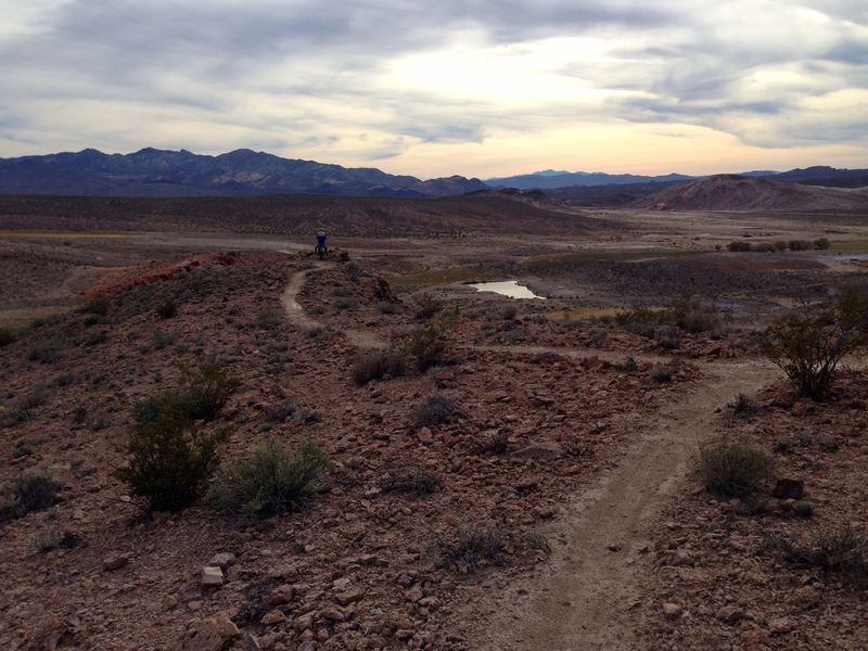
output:
<instances>
[{"instance_id":1,"label":"reddish rocky ground right of the wide foreground trail","mask_svg":"<svg viewBox=\"0 0 868 651\"><path fill-rule=\"evenodd\" d=\"M643 620L643 648L866 648L865 586L786 551L847 526L865 535L867 387L865 373L852 372L822 403L795 400L777 384L751 396L746 413L723 409L715 436L771 455L775 478L745 500L715 497L693 480L661 514L652 574L629 604ZM776 478L804 495L781 492Z\"/></svg>"}]
</instances>

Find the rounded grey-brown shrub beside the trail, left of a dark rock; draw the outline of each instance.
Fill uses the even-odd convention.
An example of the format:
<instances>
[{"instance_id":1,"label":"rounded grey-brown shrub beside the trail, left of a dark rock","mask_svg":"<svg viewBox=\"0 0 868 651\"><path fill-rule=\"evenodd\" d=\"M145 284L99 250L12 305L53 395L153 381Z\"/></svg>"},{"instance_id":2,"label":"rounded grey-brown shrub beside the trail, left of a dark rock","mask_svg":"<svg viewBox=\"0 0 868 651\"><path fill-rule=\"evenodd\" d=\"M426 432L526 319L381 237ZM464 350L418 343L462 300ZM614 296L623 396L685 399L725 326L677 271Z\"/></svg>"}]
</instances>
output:
<instances>
[{"instance_id":1,"label":"rounded grey-brown shrub beside the trail, left of a dark rock","mask_svg":"<svg viewBox=\"0 0 868 651\"><path fill-rule=\"evenodd\" d=\"M725 443L700 450L699 474L705 488L725 497L749 497L771 476L771 458L763 450Z\"/></svg>"}]
</instances>

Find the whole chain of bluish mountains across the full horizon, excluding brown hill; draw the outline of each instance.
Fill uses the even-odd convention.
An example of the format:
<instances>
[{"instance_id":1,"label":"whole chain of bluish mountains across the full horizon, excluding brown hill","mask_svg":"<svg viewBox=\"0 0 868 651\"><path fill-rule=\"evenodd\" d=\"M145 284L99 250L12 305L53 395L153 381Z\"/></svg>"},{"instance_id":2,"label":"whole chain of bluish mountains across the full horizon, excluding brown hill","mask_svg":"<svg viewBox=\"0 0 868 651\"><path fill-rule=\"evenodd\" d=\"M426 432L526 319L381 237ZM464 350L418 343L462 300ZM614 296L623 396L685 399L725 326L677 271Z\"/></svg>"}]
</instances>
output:
<instances>
[{"instance_id":1,"label":"whole chain of bluish mountains across the full horizon, excluding brown hill","mask_svg":"<svg viewBox=\"0 0 868 651\"><path fill-rule=\"evenodd\" d=\"M740 176L774 177L778 181L810 186L868 186L868 169L826 166L783 173L754 170ZM0 158L0 194L164 197L319 194L424 199L513 188L552 191L556 195L562 194L561 199L596 201L600 195L596 189L610 188L603 195L617 194L622 197L620 201L628 203L658 188L697 178L701 177L545 169L484 182L462 176L421 180L372 167L342 167L244 149L217 156L146 148L131 154L104 154L86 149L75 153Z\"/></svg>"}]
</instances>

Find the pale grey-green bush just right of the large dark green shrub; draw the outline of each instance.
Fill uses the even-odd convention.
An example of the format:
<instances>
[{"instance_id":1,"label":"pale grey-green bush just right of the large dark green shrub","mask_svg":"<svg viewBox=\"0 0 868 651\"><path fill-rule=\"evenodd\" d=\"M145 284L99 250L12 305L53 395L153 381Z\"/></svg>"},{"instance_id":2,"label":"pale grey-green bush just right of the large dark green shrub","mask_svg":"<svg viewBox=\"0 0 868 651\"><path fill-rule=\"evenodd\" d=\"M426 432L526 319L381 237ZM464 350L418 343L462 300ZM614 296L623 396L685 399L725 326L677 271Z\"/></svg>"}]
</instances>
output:
<instances>
[{"instance_id":1,"label":"pale grey-green bush just right of the large dark green shrub","mask_svg":"<svg viewBox=\"0 0 868 651\"><path fill-rule=\"evenodd\" d=\"M227 510L245 515L285 513L320 488L329 468L329 456L309 441L299 443L295 452L271 441L250 458L224 467L210 497Z\"/></svg>"}]
</instances>

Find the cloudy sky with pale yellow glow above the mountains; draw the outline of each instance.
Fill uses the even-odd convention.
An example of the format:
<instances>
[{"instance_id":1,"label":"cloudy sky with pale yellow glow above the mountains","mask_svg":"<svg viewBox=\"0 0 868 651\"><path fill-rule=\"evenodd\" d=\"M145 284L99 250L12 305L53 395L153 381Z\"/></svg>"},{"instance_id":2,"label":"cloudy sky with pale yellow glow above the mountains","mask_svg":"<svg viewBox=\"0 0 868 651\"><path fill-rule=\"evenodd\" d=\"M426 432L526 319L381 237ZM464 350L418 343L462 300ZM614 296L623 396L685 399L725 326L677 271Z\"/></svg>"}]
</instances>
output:
<instances>
[{"instance_id":1,"label":"cloudy sky with pale yellow glow above the mountains","mask_svg":"<svg viewBox=\"0 0 868 651\"><path fill-rule=\"evenodd\" d=\"M0 157L868 167L866 0L0 0Z\"/></svg>"}]
</instances>

